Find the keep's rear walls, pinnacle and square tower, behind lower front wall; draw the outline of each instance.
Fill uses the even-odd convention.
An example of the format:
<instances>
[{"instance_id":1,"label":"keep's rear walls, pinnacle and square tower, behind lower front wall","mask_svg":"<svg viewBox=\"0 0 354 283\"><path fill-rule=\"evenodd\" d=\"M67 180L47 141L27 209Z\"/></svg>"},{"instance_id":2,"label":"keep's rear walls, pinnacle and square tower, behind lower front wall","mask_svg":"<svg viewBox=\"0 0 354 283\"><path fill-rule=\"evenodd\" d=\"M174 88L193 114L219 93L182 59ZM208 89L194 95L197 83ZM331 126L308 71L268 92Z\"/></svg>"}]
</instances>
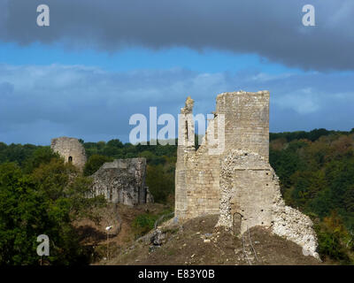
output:
<instances>
[{"instance_id":1,"label":"keep's rear walls, pinnacle and square tower, behind lower front wall","mask_svg":"<svg viewBox=\"0 0 354 283\"><path fill-rule=\"evenodd\" d=\"M222 93L217 96L216 103L214 119L207 132L213 131L215 139L219 138L218 134L224 134L225 151L219 154L211 154L210 149L217 145L205 137L199 149L195 149L194 101L188 97L181 108L175 173L177 218L219 213L221 160L228 149L250 149L268 160L269 92ZM225 117L225 130L222 131L218 129L220 114Z\"/></svg>"}]
</instances>

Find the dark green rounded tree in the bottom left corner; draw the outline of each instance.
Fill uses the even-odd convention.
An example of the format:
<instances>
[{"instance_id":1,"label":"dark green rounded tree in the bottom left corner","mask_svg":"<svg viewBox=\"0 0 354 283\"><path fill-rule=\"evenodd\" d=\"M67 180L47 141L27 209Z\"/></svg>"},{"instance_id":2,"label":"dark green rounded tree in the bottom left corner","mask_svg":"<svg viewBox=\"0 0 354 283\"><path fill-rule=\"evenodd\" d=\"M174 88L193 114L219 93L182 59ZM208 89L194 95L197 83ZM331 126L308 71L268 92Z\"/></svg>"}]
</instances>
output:
<instances>
[{"instance_id":1,"label":"dark green rounded tree in the bottom left corner","mask_svg":"<svg viewBox=\"0 0 354 283\"><path fill-rule=\"evenodd\" d=\"M36 237L53 226L44 203L18 165L0 165L0 264L37 264Z\"/></svg>"}]
</instances>

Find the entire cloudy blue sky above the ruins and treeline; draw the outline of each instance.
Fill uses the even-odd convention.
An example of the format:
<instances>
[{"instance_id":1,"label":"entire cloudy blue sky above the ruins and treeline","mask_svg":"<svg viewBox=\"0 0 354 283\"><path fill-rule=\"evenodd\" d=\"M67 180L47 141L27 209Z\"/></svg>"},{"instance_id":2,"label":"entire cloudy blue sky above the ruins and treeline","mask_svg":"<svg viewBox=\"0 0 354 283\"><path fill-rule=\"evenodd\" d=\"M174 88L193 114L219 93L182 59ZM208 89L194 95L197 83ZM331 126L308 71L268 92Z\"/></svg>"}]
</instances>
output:
<instances>
[{"instance_id":1,"label":"entire cloudy blue sky above the ruins and treeline","mask_svg":"<svg viewBox=\"0 0 354 283\"><path fill-rule=\"evenodd\" d=\"M191 96L206 115L240 89L270 91L271 132L354 128L352 0L0 0L0 11L1 142L128 142L135 113L176 117Z\"/></svg>"}]
</instances>

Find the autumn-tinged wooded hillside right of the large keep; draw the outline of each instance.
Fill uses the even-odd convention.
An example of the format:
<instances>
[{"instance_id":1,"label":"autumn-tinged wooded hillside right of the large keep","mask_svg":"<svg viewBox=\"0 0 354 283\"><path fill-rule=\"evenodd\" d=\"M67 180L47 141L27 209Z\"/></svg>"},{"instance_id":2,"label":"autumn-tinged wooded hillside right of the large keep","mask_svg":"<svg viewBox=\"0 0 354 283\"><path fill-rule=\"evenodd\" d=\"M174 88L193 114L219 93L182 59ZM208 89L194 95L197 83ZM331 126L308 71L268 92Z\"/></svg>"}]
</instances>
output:
<instances>
[{"instance_id":1,"label":"autumn-tinged wooded hillside right of the large keep","mask_svg":"<svg viewBox=\"0 0 354 283\"><path fill-rule=\"evenodd\" d=\"M354 129L271 134L270 163L286 203L312 217L319 253L352 260Z\"/></svg>"}]
</instances>

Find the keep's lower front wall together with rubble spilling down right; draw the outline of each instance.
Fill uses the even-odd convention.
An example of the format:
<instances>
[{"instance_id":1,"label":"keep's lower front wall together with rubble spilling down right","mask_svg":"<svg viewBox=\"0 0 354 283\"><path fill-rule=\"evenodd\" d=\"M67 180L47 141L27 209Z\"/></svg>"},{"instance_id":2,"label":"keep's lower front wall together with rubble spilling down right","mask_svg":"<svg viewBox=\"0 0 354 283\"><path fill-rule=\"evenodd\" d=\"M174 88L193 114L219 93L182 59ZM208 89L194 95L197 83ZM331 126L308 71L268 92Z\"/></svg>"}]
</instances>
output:
<instances>
[{"instance_id":1,"label":"keep's lower front wall together with rubble spilling down right","mask_svg":"<svg viewBox=\"0 0 354 283\"><path fill-rule=\"evenodd\" d=\"M241 216L241 233L253 226L266 226L273 233L296 242L303 248L304 255L319 258L312 220L285 205L279 179L264 157L232 149L221 168L217 226L234 230L235 221Z\"/></svg>"}]
</instances>

